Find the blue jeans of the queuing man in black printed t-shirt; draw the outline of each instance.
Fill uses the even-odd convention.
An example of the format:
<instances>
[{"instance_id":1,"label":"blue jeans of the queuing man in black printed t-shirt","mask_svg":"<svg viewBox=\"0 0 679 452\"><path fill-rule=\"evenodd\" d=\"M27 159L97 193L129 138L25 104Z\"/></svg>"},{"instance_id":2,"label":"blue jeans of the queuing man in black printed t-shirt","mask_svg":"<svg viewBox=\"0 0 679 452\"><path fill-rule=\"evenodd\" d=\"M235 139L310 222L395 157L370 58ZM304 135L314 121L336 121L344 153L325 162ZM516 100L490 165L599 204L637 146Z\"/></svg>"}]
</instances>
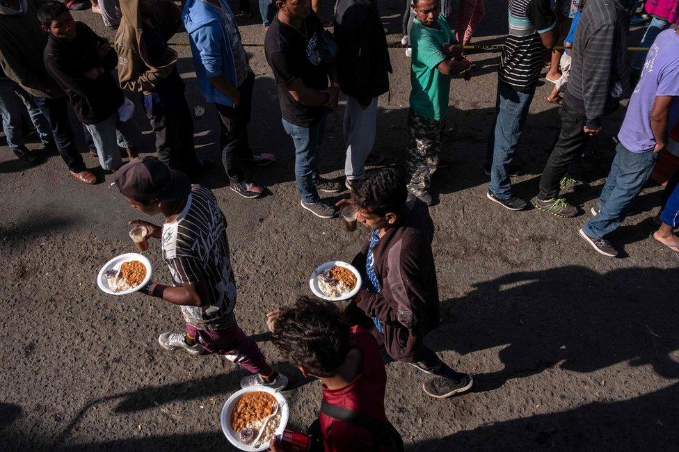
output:
<instances>
[{"instance_id":1,"label":"blue jeans of the queuing man in black printed t-shirt","mask_svg":"<svg viewBox=\"0 0 679 452\"><path fill-rule=\"evenodd\" d=\"M282 120L283 129L295 143L295 181L304 202L320 200L315 182L319 179L318 152L326 129L326 114L308 127Z\"/></svg>"}]
</instances>

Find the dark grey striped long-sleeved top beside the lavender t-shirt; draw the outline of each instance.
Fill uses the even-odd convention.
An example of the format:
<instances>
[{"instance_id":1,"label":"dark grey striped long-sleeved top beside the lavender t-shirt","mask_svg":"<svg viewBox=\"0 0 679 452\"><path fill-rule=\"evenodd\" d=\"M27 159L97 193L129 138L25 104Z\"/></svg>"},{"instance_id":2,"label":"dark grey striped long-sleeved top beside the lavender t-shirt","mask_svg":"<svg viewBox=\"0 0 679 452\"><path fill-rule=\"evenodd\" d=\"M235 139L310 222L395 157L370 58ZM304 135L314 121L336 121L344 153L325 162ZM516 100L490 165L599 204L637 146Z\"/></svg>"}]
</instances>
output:
<instances>
[{"instance_id":1,"label":"dark grey striped long-sleeved top beside the lavender t-shirt","mask_svg":"<svg viewBox=\"0 0 679 452\"><path fill-rule=\"evenodd\" d=\"M615 111L630 95L626 58L630 29L628 0L586 3L577 24L565 102L586 116L587 126Z\"/></svg>"}]
</instances>

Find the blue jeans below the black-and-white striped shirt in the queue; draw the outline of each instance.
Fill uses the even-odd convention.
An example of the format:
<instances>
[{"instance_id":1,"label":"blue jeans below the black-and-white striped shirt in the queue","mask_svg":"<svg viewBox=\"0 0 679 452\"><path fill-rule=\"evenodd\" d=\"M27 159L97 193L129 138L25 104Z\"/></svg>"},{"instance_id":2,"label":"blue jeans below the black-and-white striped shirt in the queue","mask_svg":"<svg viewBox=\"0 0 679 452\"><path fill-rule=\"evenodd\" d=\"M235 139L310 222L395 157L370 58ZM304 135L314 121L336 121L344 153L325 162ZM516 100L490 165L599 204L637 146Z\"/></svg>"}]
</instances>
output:
<instances>
[{"instance_id":1,"label":"blue jeans below the black-and-white striped shirt in the queue","mask_svg":"<svg viewBox=\"0 0 679 452\"><path fill-rule=\"evenodd\" d=\"M486 164L490 166L488 191L500 200L509 200L512 196L509 164L526 125L534 94L535 90L520 92L497 84L496 115L488 136Z\"/></svg>"}]
</instances>

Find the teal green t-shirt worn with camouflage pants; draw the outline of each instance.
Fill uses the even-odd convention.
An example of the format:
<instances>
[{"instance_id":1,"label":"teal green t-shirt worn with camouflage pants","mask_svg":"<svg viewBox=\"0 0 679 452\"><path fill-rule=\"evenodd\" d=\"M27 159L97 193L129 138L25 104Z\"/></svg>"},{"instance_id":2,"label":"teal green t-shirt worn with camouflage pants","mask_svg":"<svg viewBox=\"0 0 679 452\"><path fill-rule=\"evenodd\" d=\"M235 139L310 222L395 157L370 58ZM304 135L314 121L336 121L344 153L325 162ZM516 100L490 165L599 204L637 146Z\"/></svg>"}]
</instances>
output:
<instances>
[{"instance_id":1,"label":"teal green t-shirt worn with camouflage pants","mask_svg":"<svg viewBox=\"0 0 679 452\"><path fill-rule=\"evenodd\" d=\"M451 76L436 68L446 56L441 49L456 42L446 19L439 15L438 29L430 29L415 18L410 31L413 54L410 63L410 108L430 120L440 121L448 113Z\"/></svg>"}]
</instances>

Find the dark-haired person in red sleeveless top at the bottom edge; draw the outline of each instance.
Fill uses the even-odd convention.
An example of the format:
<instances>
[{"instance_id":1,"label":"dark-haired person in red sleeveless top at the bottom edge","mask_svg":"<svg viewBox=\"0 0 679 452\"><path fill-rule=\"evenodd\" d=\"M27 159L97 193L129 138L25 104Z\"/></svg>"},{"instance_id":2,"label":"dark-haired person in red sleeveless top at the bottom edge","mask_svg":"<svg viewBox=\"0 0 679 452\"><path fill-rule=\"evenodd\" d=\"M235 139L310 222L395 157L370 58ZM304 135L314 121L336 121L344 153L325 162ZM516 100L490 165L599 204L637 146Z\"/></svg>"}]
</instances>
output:
<instances>
[{"instance_id":1,"label":"dark-haired person in red sleeveless top at the bottom edge","mask_svg":"<svg viewBox=\"0 0 679 452\"><path fill-rule=\"evenodd\" d=\"M321 413L309 431L312 450L403 449L384 413L387 374L372 334L345 323L337 306L307 298L269 314L269 324L281 355L323 383ZM344 416L352 420L338 419ZM282 450L272 439L271 451Z\"/></svg>"}]
</instances>

